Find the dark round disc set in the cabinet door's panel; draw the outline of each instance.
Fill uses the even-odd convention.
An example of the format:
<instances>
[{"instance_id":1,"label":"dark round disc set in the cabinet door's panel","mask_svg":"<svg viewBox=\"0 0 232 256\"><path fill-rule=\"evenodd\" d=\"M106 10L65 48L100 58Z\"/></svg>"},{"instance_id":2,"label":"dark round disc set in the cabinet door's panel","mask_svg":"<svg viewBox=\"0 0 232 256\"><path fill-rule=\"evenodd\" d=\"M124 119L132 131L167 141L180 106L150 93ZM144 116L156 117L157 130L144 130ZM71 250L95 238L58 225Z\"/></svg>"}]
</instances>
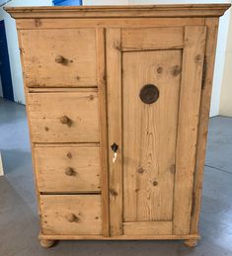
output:
<instances>
[{"instance_id":1,"label":"dark round disc set in the cabinet door's panel","mask_svg":"<svg viewBox=\"0 0 232 256\"><path fill-rule=\"evenodd\" d=\"M140 90L139 97L145 104L152 104L159 98L159 89L154 84L146 84Z\"/></svg>"}]
</instances>

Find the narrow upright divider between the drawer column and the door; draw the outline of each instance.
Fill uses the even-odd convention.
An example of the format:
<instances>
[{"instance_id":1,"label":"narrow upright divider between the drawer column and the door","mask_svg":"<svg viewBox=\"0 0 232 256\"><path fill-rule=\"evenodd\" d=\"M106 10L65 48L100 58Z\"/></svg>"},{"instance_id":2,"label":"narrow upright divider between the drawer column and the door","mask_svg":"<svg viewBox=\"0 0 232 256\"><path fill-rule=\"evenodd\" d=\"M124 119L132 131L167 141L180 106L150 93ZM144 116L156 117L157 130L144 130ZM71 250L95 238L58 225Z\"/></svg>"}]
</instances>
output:
<instances>
[{"instance_id":1,"label":"narrow upright divider between the drawer column and the door","mask_svg":"<svg viewBox=\"0 0 232 256\"><path fill-rule=\"evenodd\" d=\"M103 235L109 236L109 186L108 186L108 130L107 130L107 84L105 29L96 29L97 40L97 80L100 111L100 151L101 151L101 183L102 183L102 218Z\"/></svg>"}]
</instances>

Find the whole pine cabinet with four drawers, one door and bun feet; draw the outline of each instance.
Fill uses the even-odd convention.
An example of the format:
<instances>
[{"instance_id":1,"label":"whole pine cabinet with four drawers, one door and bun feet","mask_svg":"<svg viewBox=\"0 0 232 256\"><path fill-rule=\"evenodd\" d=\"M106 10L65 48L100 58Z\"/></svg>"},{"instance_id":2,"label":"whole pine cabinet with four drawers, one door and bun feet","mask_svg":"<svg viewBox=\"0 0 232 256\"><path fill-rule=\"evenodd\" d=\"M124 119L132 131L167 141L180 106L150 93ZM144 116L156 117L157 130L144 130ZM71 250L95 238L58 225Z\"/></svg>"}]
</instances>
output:
<instances>
[{"instance_id":1,"label":"whole pine cabinet with four drawers, one door and bun feet","mask_svg":"<svg viewBox=\"0 0 232 256\"><path fill-rule=\"evenodd\" d=\"M8 8L42 246L199 238L219 16L230 5Z\"/></svg>"}]
</instances>

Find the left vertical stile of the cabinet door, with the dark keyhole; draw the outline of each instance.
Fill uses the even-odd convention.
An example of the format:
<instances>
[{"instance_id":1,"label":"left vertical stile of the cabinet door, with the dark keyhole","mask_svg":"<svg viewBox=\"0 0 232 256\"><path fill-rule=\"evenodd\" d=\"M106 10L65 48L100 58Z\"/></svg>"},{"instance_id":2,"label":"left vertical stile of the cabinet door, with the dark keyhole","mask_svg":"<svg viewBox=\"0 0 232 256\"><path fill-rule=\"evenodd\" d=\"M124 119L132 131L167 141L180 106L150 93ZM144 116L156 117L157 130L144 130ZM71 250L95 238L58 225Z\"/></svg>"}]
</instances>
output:
<instances>
[{"instance_id":1,"label":"left vertical stile of the cabinet door, with the dark keyhole","mask_svg":"<svg viewBox=\"0 0 232 256\"><path fill-rule=\"evenodd\" d=\"M120 29L107 30L108 127L111 235L122 234L121 52ZM111 145L118 145L113 163Z\"/></svg>"}]
</instances>

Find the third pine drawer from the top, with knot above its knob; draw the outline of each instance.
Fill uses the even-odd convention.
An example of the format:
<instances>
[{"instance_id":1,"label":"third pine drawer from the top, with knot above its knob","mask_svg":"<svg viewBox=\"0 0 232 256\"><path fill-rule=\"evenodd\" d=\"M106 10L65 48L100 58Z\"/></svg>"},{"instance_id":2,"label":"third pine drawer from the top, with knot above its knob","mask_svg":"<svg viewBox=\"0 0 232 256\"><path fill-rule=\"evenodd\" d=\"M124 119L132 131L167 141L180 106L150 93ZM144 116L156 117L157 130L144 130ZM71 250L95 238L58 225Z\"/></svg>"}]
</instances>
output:
<instances>
[{"instance_id":1,"label":"third pine drawer from the top, with knot above its knob","mask_svg":"<svg viewBox=\"0 0 232 256\"><path fill-rule=\"evenodd\" d=\"M97 146L36 146L40 192L99 192L100 149Z\"/></svg>"}]
</instances>

